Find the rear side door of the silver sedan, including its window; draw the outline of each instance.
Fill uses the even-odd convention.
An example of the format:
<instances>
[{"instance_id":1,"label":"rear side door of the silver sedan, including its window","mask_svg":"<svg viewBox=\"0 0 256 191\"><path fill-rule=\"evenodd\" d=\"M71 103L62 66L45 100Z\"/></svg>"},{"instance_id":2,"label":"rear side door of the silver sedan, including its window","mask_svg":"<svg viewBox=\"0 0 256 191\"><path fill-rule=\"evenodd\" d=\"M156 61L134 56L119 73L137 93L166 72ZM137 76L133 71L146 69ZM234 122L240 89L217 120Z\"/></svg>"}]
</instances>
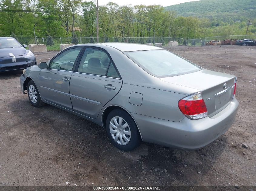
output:
<instances>
[{"instance_id":1,"label":"rear side door of the silver sedan, including its window","mask_svg":"<svg viewBox=\"0 0 256 191\"><path fill-rule=\"evenodd\" d=\"M121 86L121 76L109 54L103 49L88 47L70 81L73 110L95 119Z\"/></svg>"}]
</instances>

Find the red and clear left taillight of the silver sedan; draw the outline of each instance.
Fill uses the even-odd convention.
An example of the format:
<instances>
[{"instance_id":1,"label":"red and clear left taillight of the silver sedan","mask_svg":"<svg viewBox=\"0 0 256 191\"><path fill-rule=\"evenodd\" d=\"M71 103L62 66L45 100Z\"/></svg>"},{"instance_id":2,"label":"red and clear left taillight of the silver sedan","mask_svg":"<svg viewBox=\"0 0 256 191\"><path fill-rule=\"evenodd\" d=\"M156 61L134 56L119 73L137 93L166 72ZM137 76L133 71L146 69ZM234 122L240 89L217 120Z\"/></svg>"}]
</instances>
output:
<instances>
[{"instance_id":1,"label":"red and clear left taillight of the silver sedan","mask_svg":"<svg viewBox=\"0 0 256 191\"><path fill-rule=\"evenodd\" d=\"M178 107L189 119L201 119L208 116L202 93L197 93L179 100Z\"/></svg>"}]
</instances>

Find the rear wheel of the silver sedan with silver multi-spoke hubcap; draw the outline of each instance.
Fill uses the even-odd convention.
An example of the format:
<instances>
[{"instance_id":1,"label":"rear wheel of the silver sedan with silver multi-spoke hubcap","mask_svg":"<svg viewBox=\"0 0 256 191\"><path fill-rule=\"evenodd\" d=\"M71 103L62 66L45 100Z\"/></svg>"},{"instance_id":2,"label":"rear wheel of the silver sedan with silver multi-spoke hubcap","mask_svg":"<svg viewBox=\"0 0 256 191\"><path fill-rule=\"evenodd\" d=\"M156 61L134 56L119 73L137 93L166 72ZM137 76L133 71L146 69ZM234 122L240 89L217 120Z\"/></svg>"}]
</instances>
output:
<instances>
[{"instance_id":1,"label":"rear wheel of the silver sedan with silver multi-spoke hubcap","mask_svg":"<svg viewBox=\"0 0 256 191\"><path fill-rule=\"evenodd\" d=\"M108 114L106 130L112 144L122 151L131 151L141 142L136 123L121 109L112 110Z\"/></svg>"}]
</instances>

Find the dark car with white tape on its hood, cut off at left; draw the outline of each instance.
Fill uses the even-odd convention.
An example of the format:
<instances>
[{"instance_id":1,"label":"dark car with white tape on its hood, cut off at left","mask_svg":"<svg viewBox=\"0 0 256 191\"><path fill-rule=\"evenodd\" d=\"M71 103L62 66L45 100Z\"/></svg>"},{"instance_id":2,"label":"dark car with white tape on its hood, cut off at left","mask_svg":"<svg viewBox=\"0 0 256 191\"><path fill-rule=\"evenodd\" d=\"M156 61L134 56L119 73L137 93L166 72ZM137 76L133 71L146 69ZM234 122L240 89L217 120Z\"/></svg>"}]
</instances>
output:
<instances>
[{"instance_id":1,"label":"dark car with white tape on its hood, cut off at left","mask_svg":"<svg viewBox=\"0 0 256 191\"><path fill-rule=\"evenodd\" d=\"M36 65L35 55L11 37L0 37L0 72L22 70Z\"/></svg>"}]
</instances>

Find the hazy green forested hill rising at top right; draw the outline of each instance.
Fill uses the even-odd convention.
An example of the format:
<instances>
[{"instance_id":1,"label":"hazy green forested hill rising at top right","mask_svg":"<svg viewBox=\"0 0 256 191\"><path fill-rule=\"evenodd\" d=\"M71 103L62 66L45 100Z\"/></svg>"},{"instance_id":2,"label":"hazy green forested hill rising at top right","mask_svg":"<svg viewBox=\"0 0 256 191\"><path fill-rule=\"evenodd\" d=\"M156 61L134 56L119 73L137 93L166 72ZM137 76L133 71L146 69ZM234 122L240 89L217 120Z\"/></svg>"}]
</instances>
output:
<instances>
[{"instance_id":1,"label":"hazy green forested hill rising at top right","mask_svg":"<svg viewBox=\"0 0 256 191\"><path fill-rule=\"evenodd\" d=\"M256 18L256 0L201 0L165 7L180 16L217 18L219 21L244 21Z\"/></svg>"}]
</instances>

